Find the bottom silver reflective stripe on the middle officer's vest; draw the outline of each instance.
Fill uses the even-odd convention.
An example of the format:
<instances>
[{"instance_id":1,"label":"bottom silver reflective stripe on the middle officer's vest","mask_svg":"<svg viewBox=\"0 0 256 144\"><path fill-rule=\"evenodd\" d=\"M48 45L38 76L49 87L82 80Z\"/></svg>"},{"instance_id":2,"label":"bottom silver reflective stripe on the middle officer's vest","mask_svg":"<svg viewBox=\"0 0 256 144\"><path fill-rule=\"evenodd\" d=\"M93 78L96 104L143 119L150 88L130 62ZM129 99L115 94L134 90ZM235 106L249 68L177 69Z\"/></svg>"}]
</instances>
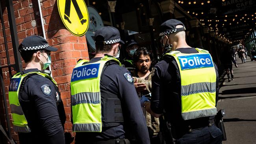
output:
<instances>
[{"instance_id":1,"label":"bottom silver reflective stripe on the middle officer's vest","mask_svg":"<svg viewBox=\"0 0 256 144\"><path fill-rule=\"evenodd\" d=\"M100 132L100 123L73 124L73 132Z\"/></svg>"}]
</instances>

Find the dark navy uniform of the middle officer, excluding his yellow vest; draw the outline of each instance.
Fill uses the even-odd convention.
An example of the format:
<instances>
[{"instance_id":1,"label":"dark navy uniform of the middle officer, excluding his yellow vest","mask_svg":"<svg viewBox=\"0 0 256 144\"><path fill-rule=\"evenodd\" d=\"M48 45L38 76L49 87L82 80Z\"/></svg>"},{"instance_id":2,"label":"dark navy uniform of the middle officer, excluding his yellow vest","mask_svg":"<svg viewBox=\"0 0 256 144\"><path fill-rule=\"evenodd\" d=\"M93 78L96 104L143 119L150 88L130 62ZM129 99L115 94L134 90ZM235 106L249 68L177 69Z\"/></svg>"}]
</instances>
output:
<instances>
[{"instance_id":1,"label":"dark navy uniform of the middle officer, excluding his yellow vest","mask_svg":"<svg viewBox=\"0 0 256 144\"><path fill-rule=\"evenodd\" d=\"M95 57L88 63L100 61L102 57ZM116 139L124 139L126 127L136 134L139 144L149 144L148 130L145 117L141 110L139 99L133 81L127 79L128 70L115 61L106 63L100 78L100 95L102 105L102 132L77 132L76 144L115 144ZM119 98L121 101L123 122L108 122L115 118L115 111L108 111L115 104L106 102L107 98ZM124 144L123 141L120 144Z\"/></svg>"}]
</instances>

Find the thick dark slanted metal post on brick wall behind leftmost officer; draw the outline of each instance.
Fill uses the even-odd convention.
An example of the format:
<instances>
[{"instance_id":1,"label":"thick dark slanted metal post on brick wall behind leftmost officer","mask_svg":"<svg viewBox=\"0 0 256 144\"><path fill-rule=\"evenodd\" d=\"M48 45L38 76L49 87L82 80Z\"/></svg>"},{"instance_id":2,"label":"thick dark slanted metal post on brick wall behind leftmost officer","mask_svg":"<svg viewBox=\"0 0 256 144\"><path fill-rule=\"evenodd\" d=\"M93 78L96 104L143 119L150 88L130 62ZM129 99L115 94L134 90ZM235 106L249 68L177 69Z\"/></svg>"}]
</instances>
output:
<instances>
[{"instance_id":1,"label":"thick dark slanted metal post on brick wall behind leftmost officer","mask_svg":"<svg viewBox=\"0 0 256 144\"><path fill-rule=\"evenodd\" d=\"M15 16L14 16L14 12L13 12L13 1L6 0L6 2L7 2L6 7L7 7L7 13L8 13L8 20L9 20L10 31L11 31L11 42L13 44L13 54L14 54L14 59L15 59L15 70L16 70L16 72L21 72L22 71L22 63L21 63L20 53L18 51L19 41L18 41Z\"/></svg>"}]
</instances>

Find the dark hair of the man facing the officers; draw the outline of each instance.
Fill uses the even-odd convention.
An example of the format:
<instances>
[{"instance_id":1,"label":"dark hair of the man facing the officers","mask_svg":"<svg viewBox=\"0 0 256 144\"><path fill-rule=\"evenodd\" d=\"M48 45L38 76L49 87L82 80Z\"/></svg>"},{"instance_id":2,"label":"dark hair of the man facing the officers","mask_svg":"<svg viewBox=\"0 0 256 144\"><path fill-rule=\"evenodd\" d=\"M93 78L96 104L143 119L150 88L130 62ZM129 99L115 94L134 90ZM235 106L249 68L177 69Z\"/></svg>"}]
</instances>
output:
<instances>
[{"instance_id":1,"label":"dark hair of the man facing the officers","mask_svg":"<svg viewBox=\"0 0 256 144\"><path fill-rule=\"evenodd\" d=\"M155 65L155 59L154 59L154 54L152 53L151 50L149 50L148 48L146 47L140 47L138 48L135 53L134 53L134 64L137 63L139 61L139 56L140 55L149 55L150 57L150 60L151 60L151 66L150 66L150 69L152 68L152 66Z\"/></svg>"}]
</instances>

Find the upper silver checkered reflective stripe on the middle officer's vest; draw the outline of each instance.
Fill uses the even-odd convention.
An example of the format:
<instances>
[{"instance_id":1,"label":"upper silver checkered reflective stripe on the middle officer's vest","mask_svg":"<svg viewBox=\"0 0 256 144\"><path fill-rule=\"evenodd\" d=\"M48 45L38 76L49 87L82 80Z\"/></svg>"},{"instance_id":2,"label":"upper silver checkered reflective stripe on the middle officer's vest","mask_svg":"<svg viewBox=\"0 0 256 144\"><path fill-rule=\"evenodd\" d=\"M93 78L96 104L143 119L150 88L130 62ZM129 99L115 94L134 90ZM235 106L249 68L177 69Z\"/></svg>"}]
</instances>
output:
<instances>
[{"instance_id":1,"label":"upper silver checkered reflective stripe on the middle officer's vest","mask_svg":"<svg viewBox=\"0 0 256 144\"><path fill-rule=\"evenodd\" d=\"M72 106L81 103L100 103L100 92L80 92L71 96Z\"/></svg>"}]
</instances>

